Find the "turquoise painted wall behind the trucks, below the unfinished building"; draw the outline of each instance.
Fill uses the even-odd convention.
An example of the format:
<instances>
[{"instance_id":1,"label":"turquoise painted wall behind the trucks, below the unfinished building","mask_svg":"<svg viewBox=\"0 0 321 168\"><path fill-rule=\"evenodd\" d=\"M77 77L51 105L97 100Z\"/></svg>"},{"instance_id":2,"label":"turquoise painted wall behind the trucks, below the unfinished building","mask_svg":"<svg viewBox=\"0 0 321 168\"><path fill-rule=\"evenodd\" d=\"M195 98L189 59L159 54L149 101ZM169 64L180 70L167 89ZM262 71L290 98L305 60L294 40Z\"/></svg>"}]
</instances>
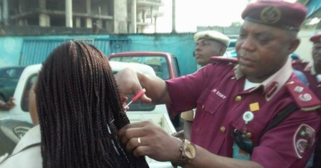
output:
<instances>
[{"instance_id":1,"label":"turquoise painted wall behind the trucks, below the unfinished building","mask_svg":"<svg viewBox=\"0 0 321 168\"><path fill-rule=\"evenodd\" d=\"M59 43L75 40L101 39L101 38L122 38L130 39L130 51L162 51L170 52L176 55L178 65L182 75L191 74L196 71L196 60L193 57L195 42L194 34L122 34L122 35L68 35L68 36L11 36L0 37L0 67L19 65L20 51L23 40L39 39L39 40L59 40ZM25 43L25 42L24 42ZM29 44L32 45L32 44ZM55 44L56 45L56 44ZM39 50L46 49L47 45L39 45L35 43L32 46ZM109 54L110 50L97 46L104 50L105 54ZM49 49L51 50L51 49ZM122 49L124 50L124 49ZM50 51L41 52L47 55ZM118 52L118 50L117 50ZM24 55L25 56L25 55ZM25 59L23 57L23 59Z\"/></svg>"}]
</instances>

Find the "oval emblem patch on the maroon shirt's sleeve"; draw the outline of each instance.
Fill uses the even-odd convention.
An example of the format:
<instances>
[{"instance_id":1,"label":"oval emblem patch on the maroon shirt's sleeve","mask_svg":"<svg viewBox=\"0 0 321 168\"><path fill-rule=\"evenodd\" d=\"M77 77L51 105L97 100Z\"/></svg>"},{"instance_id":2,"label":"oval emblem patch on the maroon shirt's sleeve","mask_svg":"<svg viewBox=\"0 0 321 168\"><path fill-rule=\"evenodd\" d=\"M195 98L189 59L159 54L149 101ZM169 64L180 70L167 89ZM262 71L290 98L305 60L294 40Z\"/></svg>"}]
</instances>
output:
<instances>
[{"instance_id":1,"label":"oval emblem patch on the maroon shirt's sleeve","mask_svg":"<svg viewBox=\"0 0 321 168\"><path fill-rule=\"evenodd\" d=\"M315 141L315 130L306 125L301 124L293 136L293 146L299 158L302 158L306 151L313 145Z\"/></svg>"}]
</instances>

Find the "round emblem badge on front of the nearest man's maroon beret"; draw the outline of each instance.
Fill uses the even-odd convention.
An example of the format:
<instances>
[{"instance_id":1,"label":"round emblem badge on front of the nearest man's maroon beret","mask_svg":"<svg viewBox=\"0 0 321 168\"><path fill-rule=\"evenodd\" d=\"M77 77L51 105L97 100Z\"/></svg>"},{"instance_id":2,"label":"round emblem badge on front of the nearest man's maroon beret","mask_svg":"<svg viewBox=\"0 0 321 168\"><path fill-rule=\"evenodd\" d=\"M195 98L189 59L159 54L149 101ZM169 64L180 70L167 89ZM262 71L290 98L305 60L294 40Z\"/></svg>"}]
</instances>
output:
<instances>
[{"instance_id":1,"label":"round emblem badge on front of the nearest man's maroon beret","mask_svg":"<svg viewBox=\"0 0 321 168\"><path fill-rule=\"evenodd\" d=\"M265 7L261 12L261 20L264 23L276 23L281 19L281 10L276 7Z\"/></svg>"}]
</instances>

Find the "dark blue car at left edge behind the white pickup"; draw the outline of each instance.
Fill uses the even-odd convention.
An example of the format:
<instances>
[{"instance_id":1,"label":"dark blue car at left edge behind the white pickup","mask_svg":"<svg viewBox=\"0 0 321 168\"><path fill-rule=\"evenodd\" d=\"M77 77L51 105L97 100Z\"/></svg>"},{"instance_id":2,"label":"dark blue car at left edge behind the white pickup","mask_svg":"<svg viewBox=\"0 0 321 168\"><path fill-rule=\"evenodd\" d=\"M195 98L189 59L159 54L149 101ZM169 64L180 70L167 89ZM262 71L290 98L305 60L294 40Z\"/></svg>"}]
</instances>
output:
<instances>
[{"instance_id":1,"label":"dark blue car at left edge behind the white pickup","mask_svg":"<svg viewBox=\"0 0 321 168\"><path fill-rule=\"evenodd\" d=\"M13 96L19 77L25 67L6 67L0 69L0 100L8 101Z\"/></svg>"}]
</instances>

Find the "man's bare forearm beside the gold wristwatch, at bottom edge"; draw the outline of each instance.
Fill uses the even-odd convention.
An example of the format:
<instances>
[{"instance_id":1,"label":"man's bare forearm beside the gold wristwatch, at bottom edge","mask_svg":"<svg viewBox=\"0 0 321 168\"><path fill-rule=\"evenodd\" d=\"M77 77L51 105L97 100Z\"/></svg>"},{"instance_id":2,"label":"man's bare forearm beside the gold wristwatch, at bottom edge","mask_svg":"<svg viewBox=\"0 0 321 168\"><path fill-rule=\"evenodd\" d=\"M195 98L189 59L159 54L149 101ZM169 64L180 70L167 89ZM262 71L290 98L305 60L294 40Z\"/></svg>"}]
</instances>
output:
<instances>
[{"instance_id":1,"label":"man's bare forearm beside the gold wristwatch, at bottom edge","mask_svg":"<svg viewBox=\"0 0 321 168\"><path fill-rule=\"evenodd\" d=\"M228 157L222 157L208 152L207 150L196 147L196 157L191 163L188 163L184 168L188 167L263 167L262 165L247 160L239 160Z\"/></svg>"}]
</instances>

